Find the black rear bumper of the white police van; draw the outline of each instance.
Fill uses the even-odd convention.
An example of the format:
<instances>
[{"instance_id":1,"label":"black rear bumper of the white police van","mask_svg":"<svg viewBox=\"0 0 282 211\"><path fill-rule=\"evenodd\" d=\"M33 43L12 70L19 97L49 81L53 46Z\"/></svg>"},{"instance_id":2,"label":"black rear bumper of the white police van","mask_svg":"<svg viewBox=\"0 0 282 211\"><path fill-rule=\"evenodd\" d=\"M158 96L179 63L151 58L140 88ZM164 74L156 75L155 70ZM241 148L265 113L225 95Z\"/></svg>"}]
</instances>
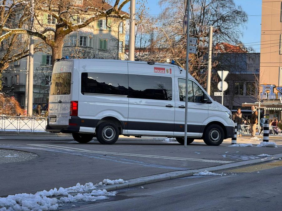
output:
<instances>
[{"instance_id":1,"label":"black rear bumper of the white police van","mask_svg":"<svg viewBox=\"0 0 282 211\"><path fill-rule=\"evenodd\" d=\"M49 125L49 118L47 119L47 125L45 130L51 133L75 133L79 132L80 128L80 118L71 117L69 119L69 124L72 125Z\"/></svg>"}]
</instances>

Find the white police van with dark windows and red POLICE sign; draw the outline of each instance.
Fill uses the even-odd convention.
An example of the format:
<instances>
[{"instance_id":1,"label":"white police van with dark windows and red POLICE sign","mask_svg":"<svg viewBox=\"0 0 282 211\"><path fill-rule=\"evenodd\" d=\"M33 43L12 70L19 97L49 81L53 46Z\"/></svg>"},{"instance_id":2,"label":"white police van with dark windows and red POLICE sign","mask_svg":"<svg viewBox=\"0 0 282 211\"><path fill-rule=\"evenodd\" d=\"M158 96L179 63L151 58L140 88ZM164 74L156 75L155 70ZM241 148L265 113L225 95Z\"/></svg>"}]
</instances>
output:
<instances>
[{"instance_id":1,"label":"white police van with dark windows and red POLICE sign","mask_svg":"<svg viewBox=\"0 0 282 211\"><path fill-rule=\"evenodd\" d=\"M184 144L185 70L172 64L105 59L55 62L46 131L93 137L174 137ZM189 74L187 143L217 146L234 134L230 111Z\"/></svg>"}]
</instances>

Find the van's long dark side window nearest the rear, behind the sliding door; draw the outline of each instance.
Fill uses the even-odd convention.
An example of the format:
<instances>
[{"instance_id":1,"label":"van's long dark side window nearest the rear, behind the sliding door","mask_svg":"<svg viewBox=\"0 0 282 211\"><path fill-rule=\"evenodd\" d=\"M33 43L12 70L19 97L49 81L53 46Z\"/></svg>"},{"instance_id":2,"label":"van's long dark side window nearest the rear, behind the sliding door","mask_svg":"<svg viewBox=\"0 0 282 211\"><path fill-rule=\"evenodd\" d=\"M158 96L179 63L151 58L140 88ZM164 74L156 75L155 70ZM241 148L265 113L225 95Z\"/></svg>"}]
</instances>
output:
<instances>
[{"instance_id":1,"label":"van's long dark side window nearest the rear, behind the sliding door","mask_svg":"<svg viewBox=\"0 0 282 211\"><path fill-rule=\"evenodd\" d=\"M81 73L81 93L128 95L128 75Z\"/></svg>"}]
</instances>

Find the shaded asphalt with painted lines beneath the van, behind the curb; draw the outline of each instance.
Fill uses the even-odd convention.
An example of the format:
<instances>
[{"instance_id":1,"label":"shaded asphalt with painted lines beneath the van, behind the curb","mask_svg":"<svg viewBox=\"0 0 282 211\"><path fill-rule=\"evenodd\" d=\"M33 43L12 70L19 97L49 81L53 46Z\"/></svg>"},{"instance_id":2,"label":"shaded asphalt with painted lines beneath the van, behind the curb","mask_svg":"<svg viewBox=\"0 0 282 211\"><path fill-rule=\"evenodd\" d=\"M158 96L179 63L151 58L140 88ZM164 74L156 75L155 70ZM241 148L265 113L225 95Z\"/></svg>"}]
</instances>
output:
<instances>
[{"instance_id":1,"label":"shaded asphalt with painted lines beneath the van, behind the curb","mask_svg":"<svg viewBox=\"0 0 282 211\"><path fill-rule=\"evenodd\" d=\"M126 180L175 170L206 168L259 158L257 155L263 153L282 153L281 145L278 148L227 147L229 145L230 140L218 147L198 141L185 148L175 142L133 139L114 145L101 145L95 140L80 144L67 140L0 139L0 148L38 155L28 161L0 164L0 196L66 188L78 182L95 184L105 178Z\"/></svg>"}]
</instances>

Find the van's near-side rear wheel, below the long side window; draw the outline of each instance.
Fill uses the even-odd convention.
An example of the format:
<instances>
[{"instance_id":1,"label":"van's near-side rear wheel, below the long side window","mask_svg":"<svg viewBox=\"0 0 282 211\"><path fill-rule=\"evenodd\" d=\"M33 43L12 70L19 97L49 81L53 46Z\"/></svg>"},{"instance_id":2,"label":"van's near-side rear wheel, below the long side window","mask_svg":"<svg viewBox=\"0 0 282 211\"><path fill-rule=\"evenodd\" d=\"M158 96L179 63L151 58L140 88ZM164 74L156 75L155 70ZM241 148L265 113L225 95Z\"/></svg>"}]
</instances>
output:
<instances>
[{"instance_id":1,"label":"van's near-side rear wheel, below the long side window","mask_svg":"<svg viewBox=\"0 0 282 211\"><path fill-rule=\"evenodd\" d=\"M116 143L118 136L118 127L112 122L103 122L96 130L96 138L102 144Z\"/></svg>"}]
</instances>

